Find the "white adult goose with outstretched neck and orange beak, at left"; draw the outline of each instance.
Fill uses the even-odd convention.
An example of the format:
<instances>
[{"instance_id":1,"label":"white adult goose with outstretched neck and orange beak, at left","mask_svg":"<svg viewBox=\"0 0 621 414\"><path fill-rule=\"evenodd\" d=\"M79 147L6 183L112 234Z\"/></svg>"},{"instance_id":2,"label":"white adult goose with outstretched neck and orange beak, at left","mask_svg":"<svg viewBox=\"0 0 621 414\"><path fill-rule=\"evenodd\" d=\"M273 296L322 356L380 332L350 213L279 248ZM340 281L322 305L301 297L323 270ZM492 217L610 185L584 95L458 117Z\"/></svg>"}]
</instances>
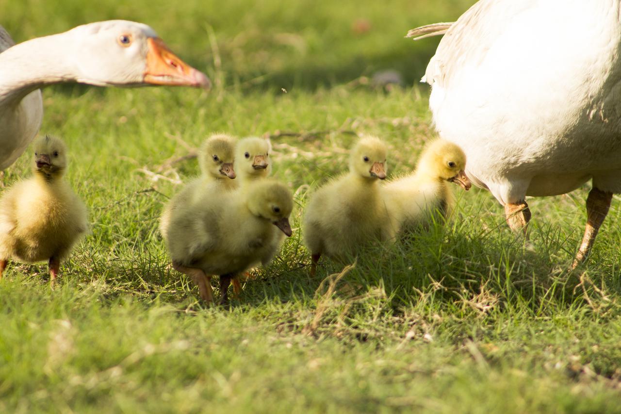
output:
<instances>
[{"instance_id":1,"label":"white adult goose with outstretched neck and orange beak, at left","mask_svg":"<svg viewBox=\"0 0 621 414\"><path fill-rule=\"evenodd\" d=\"M39 88L79 82L97 86L209 86L145 24L106 21L15 44L0 26L0 170L39 131Z\"/></svg>"}]
</instances>

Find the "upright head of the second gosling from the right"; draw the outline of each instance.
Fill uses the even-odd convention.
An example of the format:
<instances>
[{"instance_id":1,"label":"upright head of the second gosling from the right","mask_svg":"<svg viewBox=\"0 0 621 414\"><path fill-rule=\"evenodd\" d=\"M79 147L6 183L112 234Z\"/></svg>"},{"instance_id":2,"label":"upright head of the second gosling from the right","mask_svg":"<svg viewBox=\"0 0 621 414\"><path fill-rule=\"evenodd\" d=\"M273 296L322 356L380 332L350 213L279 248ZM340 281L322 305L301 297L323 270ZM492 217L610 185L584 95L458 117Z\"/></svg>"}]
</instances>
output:
<instances>
[{"instance_id":1,"label":"upright head of the second gosling from the right","mask_svg":"<svg viewBox=\"0 0 621 414\"><path fill-rule=\"evenodd\" d=\"M363 137L351 150L351 173L372 180L384 180L387 167L386 144L377 137Z\"/></svg>"}]
</instances>

